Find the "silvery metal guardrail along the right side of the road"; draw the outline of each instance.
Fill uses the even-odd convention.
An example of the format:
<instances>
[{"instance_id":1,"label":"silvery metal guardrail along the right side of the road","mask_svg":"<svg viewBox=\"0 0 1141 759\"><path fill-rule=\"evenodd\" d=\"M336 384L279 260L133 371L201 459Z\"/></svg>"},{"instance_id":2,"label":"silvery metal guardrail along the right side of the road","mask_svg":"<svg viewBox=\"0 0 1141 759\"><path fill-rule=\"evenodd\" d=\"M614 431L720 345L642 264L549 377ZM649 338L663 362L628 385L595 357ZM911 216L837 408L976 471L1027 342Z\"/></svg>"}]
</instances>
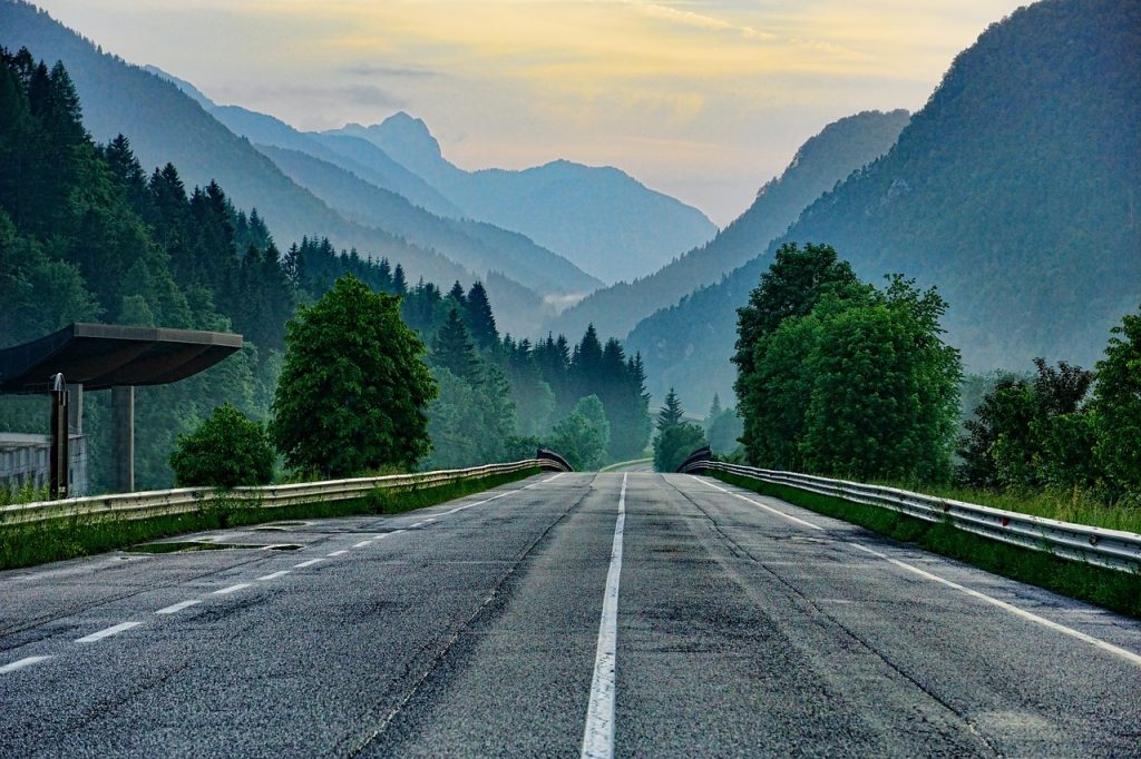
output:
<instances>
[{"instance_id":1,"label":"silvery metal guardrail along the right side of the road","mask_svg":"<svg viewBox=\"0 0 1141 759\"><path fill-rule=\"evenodd\" d=\"M832 480L794 472L760 470L723 462L689 462L686 473L717 471L788 485L869 506L890 508L926 522L949 522L965 532L1023 548L1109 569L1141 572L1141 534L1122 530L1059 522L1044 516L1008 512L949 498L924 496L883 485Z\"/></svg>"}]
</instances>

